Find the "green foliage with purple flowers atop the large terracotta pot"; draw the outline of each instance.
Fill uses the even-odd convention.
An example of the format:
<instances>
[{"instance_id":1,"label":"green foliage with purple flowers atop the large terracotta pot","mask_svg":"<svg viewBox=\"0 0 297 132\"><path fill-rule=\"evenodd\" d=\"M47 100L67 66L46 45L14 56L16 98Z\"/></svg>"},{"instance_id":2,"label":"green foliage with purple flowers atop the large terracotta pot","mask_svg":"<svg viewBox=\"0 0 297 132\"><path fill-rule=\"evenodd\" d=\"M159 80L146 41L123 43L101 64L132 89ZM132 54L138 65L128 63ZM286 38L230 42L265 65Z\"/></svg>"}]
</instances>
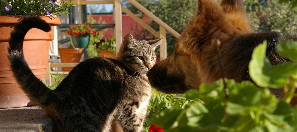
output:
<instances>
[{"instance_id":1,"label":"green foliage with purple flowers atop the large terracotta pot","mask_svg":"<svg viewBox=\"0 0 297 132\"><path fill-rule=\"evenodd\" d=\"M1 0L0 16L59 16L60 13L69 14L68 8L72 6L73 3L71 2L59 0Z\"/></svg>"}]
</instances>

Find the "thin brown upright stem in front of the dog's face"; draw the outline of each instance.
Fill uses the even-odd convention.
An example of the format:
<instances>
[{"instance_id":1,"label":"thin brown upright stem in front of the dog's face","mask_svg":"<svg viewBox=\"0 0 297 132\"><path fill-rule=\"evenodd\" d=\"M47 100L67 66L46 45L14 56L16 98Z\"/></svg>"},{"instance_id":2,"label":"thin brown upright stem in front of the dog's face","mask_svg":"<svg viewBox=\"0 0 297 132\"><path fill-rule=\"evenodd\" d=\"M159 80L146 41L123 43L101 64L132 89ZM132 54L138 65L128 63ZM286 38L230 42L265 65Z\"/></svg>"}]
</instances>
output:
<instances>
[{"instance_id":1,"label":"thin brown upright stem in front of the dog's face","mask_svg":"<svg viewBox=\"0 0 297 132\"><path fill-rule=\"evenodd\" d=\"M219 65L220 65L220 69L221 69L221 74L222 74L222 78L223 78L223 83L224 83L224 88L225 88L225 98L229 98L229 89L227 88L227 85L226 85L226 82L225 82L225 72L224 72L224 68L223 68L223 63L222 63L222 58L221 58L221 52L220 52L220 45L221 45L221 42L218 40L218 39L214 39L212 41L215 46L216 46L216 49L217 49L217 54L218 54L218 59L219 59Z\"/></svg>"}]
</instances>

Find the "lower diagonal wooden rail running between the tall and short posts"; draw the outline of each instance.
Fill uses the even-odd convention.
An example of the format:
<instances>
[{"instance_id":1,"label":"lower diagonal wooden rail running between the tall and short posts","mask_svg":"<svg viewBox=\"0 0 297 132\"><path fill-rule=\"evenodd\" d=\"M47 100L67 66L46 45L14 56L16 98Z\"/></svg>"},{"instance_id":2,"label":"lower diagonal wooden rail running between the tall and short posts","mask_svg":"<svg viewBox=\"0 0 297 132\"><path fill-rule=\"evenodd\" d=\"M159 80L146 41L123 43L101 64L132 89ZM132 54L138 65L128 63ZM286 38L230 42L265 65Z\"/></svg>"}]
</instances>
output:
<instances>
[{"instance_id":1,"label":"lower diagonal wooden rail running between the tall and short posts","mask_svg":"<svg viewBox=\"0 0 297 132\"><path fill-rule=\"evenodd\" d=\"M129 16L131 16L131 18L134 19L137 23L139 23L140 25L142 25L146 30L148 30L150 33L154 34L154 36L156 36L157 38L160 37L159 32L157 32L151 26L149 26L148 24L146 24L145 22L143 22L140 18L138 18L136 15L134 15L133 12L131 12L130 10L128 10L127 8L125 8L123 5L122 5L122 10L124 12L126 12Z\"/></svg>"}]
</instances>

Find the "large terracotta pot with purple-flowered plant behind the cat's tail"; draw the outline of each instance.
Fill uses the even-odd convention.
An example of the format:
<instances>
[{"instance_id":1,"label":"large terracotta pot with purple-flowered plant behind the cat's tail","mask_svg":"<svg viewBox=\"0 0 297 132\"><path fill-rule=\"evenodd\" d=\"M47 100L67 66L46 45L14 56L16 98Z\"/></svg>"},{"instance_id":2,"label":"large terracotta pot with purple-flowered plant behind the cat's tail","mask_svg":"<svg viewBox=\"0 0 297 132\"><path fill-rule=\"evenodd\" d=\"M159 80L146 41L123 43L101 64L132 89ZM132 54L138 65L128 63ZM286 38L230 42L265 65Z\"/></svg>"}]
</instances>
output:
<instances>
[{"instance_id":1,"label":"large terracotta pot with purple-flowered plant behind the cat's tail","mask_svg":"<svg viewBox=\"0 0 297 132\"><path fill-rule=\"evenodd\" d=\"M14 79L7 57L8 39L14 25L24 15L38 15L52 26L52 31L48 33L31 29L24 39L25 59L34 75L43 80L48 64L49 44L54 37L53 29L61 24L60 20L52 15L67 13L72 6L72 3L56 0L0 1L0 108L23 107L30 101Z\"/></svg>"}]
</instances>

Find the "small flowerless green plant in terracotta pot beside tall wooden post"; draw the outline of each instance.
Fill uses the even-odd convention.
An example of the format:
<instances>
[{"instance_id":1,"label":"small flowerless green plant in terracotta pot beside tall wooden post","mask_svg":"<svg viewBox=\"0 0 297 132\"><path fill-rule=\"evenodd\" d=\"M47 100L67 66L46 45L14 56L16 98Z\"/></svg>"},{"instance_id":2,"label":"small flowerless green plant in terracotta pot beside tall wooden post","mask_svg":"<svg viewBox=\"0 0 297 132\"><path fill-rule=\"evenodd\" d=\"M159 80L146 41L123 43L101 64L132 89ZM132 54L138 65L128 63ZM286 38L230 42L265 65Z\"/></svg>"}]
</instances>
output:
<instances>
[{"instance_id":1,"label":"small flowerless green plant in terracotta pot beside tall wooden post","mask_svg":"<svg viewBox=\"0 0 297 132\"><path fill-rule=\"evenodd\" d=\"M104 41L102 41L99 44L98 48L102 57L112 58L112 59L116 58L115 38L104 39Z\"/></svg>"}]
</instances>

